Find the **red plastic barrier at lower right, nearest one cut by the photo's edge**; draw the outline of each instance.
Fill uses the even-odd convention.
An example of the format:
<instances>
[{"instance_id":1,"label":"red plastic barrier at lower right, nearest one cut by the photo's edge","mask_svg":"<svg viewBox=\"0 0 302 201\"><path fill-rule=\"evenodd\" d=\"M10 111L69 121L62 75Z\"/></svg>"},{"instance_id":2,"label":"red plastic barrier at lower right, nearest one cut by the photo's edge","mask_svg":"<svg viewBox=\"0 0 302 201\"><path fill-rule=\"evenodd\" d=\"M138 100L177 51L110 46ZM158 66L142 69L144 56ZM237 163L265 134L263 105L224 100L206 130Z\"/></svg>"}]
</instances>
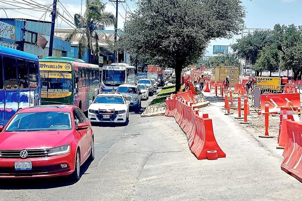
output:
<instances>
[{"instance_id":1,"label":"red plastic barrier at lower right, nearest one cut by the photo's edge","mask_svg":"<svg viewBox=\"0 0 302 201\"><path fill-rule=\"evenodd\" d=\"M281 169L302 182L302 122L286 121L287 140Z\"/></svg>"}]
</instances>

